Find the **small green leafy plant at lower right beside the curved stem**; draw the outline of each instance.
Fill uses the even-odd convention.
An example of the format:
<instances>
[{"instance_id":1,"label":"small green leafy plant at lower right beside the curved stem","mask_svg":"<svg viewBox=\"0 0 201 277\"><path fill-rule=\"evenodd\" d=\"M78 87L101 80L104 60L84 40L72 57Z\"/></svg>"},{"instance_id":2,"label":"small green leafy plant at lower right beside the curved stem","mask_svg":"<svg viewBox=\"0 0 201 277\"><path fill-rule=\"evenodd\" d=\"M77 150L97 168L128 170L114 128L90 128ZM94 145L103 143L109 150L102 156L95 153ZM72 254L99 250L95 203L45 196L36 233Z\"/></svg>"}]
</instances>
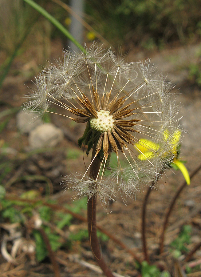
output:
<instances>
[{"instance_id":1,"label":"small green leafy plant at lower right beside the curved stem","mask_svg":"<svg viewBox=\"0 0 201 277\"><path fill-rule=\"evenodd\" d=\"M178 237L171 242L170 245L173 248L173 256L175 258L179 258L183 252L188 252L186 245L190 243L191 231L190 225L184 225Z\"/></svg>"}]
</instances>

